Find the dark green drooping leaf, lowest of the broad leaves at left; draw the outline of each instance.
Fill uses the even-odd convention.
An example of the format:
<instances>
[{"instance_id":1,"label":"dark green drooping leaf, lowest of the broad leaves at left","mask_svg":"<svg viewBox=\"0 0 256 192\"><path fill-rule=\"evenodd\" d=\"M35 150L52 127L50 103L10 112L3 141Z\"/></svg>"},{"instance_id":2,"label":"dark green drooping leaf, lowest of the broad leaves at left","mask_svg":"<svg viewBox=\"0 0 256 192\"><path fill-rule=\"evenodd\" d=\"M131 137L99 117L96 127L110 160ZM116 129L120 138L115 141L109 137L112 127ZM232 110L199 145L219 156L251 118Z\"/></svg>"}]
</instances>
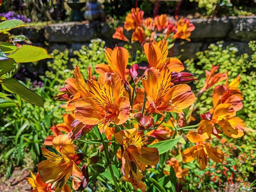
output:
<instances>
[{"instance_id":1,"label":"dark green drooping leaf, lowest of the broad leaves at left","mask_svg":"<svg viewBox=\"0 0 256 192\"><path fill-rule=\"evenodd\" d=\"M18 94L25 101L43 107L43 99L36 93L32 92L27 87L21 85L13 78L5 79L2 81L9 91Z\"/></svg>"}]
</instances>

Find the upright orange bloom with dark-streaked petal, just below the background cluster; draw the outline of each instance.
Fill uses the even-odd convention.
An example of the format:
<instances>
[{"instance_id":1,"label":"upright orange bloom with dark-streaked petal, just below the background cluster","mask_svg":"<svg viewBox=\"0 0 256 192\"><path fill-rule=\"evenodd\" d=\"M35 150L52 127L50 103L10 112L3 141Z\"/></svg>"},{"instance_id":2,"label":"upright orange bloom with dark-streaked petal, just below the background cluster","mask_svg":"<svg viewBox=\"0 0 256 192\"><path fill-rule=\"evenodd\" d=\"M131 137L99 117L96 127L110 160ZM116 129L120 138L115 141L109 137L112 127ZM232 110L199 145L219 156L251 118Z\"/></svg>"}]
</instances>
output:
<instances>
[{"instance_id":1,"label":"upright orange bloom with dark-streaked petal, just below the background cluster","mask_svg":"<svg viewBox=\"0 0 256 192\"><path fill-rule=\"evenodd\" d=\"M177 58L167 58L168 56L168 42L162 40L160 42L149 42L144 44L144 51L148 59L149 67L155 67L162 70L164 65L167 65L171 71L180 72L185 68L182 62Z\"/></svg>"}]
</instances>

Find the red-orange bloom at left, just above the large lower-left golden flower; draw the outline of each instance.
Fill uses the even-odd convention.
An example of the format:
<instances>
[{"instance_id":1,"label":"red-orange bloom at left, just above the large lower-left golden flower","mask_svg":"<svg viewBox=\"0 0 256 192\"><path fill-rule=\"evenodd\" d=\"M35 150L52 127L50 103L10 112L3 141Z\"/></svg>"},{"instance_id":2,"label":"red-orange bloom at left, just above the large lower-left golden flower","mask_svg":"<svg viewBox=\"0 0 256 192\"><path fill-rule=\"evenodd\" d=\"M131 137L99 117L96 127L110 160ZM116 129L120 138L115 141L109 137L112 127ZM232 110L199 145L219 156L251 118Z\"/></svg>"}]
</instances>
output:
<instances>
[{"instance_id":1,"label":"red-orange bloom at left, just above the large lower-left golden flower","mask_svg":"<svg viewBox=\"0 0 256 192\"><path fill-rule=\"evenodd\" d=\"M70 133L72 131L71 124L75 120L75 115L73 112L70 114L62 114L64 123L58 123L56 126L53 125L50 127L53 135L49 135L46 137L44 145L52 145L52 140L54 137L63 134L63 132Z\"/></svg>"}]
</instances>

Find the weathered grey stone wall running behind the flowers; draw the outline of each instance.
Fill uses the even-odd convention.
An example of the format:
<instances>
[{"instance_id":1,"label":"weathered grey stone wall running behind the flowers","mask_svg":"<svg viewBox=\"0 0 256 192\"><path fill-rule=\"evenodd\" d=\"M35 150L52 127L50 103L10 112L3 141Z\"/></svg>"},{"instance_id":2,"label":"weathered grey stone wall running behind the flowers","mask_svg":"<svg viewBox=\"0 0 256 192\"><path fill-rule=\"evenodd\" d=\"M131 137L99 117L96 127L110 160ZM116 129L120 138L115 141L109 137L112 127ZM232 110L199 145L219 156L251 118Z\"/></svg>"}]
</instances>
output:
<instances>
[{"instance_id":1,"label":"weathered grey stone wall running behind the flowers","mask_svg":"<svg viewBox=\"0 0 256 192\"><path fill-rule=\"evenodd\" d=\"M256 17L223 17L191 19L195 30L191 33L191 42L177 40L173 55L182 54L181 60L196 58L195 53L204 51L211 43L224 40L225 45L234 43L240 54L251 53L248 47L250 40L256 40ZM45 27L22 27L13 29L14 34L24 34L33 45L53 49L78 50L81 45L88 45L91 39L101 38L106 41L106 47L113 48L116 44L122 46L124 42L112 39L115 29L106 22L83 21L51 24ZM130 36L130 33L126 33Z\"/></svg>"}]
</instances>

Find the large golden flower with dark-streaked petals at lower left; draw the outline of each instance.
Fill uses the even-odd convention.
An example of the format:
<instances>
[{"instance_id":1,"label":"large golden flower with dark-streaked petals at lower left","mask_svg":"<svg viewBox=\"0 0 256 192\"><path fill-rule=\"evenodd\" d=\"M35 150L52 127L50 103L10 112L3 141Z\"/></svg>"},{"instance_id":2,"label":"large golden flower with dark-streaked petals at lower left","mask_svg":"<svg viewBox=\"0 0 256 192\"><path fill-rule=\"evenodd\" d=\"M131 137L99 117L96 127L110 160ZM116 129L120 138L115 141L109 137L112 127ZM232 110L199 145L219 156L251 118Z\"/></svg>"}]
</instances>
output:
<instances>
[{"instance_id":1,"label":"large golden flower with dark-streaked petals at lower left","mask_svg":"<svg viewBox=\"0 0 256 192\"><path fill-rule=\"evenodd\" d=\"M38 172L43 182L52 183L55 192L61 192L72 175L72 188L77 190L81 185L82 171L77 165L83 160L83 154L75 154L73 141L68 134L56 136L53 146L61 156L42 147L43 156L47 160L38 164Z\"/></svg>"}]
</instances>

